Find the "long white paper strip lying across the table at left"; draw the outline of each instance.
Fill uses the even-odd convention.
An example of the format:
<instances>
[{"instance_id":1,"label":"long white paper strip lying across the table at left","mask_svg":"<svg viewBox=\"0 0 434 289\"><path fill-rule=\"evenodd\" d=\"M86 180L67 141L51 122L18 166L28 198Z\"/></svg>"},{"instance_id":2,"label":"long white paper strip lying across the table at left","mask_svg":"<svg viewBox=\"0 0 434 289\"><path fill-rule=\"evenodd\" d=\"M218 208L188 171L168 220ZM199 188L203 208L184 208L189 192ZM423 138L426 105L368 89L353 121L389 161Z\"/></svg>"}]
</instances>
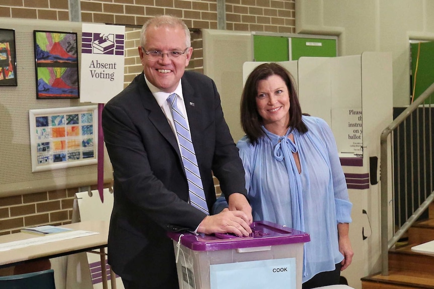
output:
<instances>
[{"instance_id":1,"label":"long white paper strip lying across the table at left","mask_svg":"<svg viewBox=\"0 0 434 289\"><path fill-rule=\"evenodd\" d=\"M71 232L64 232L62 234L54 234L54 235L30 238L25 240L13 241L13 242L0 244L0 251L7 251L11 249L18 249L18 248L23 248L23 247L33 246L33 245L40 245L40 244L56 242L60 240L67 240L67 239L79 238L79 237L96 235L96 234L99 233L77 230Z\"/></svg>"}]
</instances>

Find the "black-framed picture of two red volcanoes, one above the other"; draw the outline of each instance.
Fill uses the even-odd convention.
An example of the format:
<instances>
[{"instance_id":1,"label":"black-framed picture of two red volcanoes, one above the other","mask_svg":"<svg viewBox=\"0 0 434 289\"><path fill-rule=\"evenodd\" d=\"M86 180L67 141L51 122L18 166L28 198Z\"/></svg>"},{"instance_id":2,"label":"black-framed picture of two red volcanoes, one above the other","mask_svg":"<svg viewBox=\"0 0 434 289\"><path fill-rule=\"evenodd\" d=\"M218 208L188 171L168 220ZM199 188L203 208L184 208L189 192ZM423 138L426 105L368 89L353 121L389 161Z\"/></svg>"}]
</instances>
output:
<instances>
[{"instance_id":1,"label":"black-framed picture of two red volcanoes, one above the other","mask_svg":"<svg viewBox=\"0 0 434 289\"><path fill-rule=\"evenodd\" d=\"M33 31L37 99L78 99L77 33Z\"/></svg>"}]
</instances>

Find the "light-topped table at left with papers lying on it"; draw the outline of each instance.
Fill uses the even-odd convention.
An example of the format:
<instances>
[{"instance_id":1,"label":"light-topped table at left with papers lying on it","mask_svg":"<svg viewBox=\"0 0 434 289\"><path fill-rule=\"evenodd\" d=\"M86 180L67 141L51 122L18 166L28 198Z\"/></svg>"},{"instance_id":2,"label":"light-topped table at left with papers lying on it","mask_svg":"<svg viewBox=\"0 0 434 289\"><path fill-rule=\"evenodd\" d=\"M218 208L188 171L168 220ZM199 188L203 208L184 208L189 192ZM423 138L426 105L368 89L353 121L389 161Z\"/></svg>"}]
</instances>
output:
<instances>
[{"instance_id":1,"label":"light-topped table at left with papers lying on it","mask_svg":"<svg viewBox=\"0 0 434 289\"><path fill-rule=\"evenodd\" d=\"M61 227L70 228L74 230L98 232L99 234L84 236L74 239L59 240L55 242L32 245L23 248L11 249L2 251L0 253L0 268L17 265L28 260L37 260L45 258L60 257L80 252L88 252L92 250L99 250L101 255L101 271L103 288L108 288L107 274L105 272L105 251L107 247L107 238L109 230L109 222L107 221L86 221L79 222ZM61 234L61 233L60 233ZM38 235L29 233L14 233L9 235L0 236L0 244L25 240L30 238L40 237ZM111 273L112 288L116 288L116 278L114 272ZM114 283L114 284L113 284Z\"/></svg>"}]
</instances>

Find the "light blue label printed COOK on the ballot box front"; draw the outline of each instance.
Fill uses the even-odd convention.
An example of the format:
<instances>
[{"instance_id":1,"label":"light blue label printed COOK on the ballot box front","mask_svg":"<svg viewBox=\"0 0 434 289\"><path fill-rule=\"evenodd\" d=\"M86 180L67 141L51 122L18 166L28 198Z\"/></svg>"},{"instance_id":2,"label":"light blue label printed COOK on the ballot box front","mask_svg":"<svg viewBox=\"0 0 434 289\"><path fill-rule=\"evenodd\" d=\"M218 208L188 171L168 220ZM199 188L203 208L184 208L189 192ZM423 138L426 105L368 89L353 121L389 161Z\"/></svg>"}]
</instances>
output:
<instances>
[{"instance_id":1,"label":"light blue label printed COOK on the ballot box front","mask_svg":"<svg viewBox=\"0 0 434 289\"><path fill-rule=\"evenodd\" d=\"M211 289L296 289L296 258L209 265Z\"/></svg>"}]
</instances>

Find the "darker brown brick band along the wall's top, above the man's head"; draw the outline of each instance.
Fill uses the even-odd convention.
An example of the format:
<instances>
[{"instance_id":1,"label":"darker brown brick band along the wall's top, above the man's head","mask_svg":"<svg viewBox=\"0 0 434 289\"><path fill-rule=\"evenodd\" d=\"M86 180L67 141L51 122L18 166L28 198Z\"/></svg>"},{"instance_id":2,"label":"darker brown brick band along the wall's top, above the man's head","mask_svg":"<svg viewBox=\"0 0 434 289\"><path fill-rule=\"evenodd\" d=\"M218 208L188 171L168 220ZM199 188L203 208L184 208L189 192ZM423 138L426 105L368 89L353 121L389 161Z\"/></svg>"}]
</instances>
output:
<instances>
[{"instance_id":1,"label":"darker brown brick band along the wall's top, above the man's head","mask_svg":"<svg viewBox=\"0 0 434 289\"><path fill-rule=\"evenodd\" d=\"M141 26L171 14L189 28L217 29L217 2L184 0L82 0L83 22ZM0 17L68 20L67 0L2 0ZM294 0L226 0L226 29L295 33Z\"/></svg>"}]
</instances>

